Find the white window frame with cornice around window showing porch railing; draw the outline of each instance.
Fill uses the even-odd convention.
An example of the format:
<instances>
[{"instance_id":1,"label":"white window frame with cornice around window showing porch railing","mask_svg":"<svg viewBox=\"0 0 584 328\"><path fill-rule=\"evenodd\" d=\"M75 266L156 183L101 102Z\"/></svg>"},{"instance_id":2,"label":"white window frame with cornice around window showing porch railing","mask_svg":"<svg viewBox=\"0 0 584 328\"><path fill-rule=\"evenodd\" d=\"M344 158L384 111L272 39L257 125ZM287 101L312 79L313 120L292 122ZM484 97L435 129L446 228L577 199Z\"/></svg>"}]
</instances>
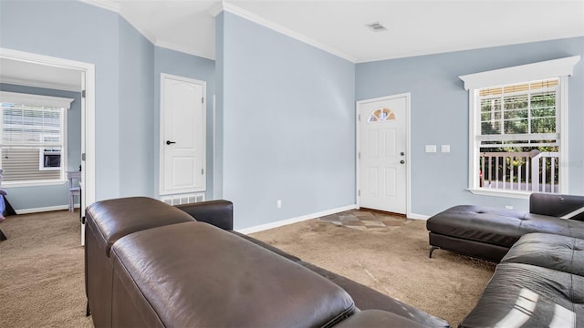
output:
<instances>
[{"instance_id":1,"label":"white window frame with cornice around window showing porch railing","mask_svg":"<svg viewBox=\"0 0 584 328\"><path fill-rule=\"evenodd\" d=\"M480 187L479 178L479 149L480 141L477 136L481 134L481 108L479 90L485 87L495 87L519 84L528 81L558 78L559 86L557 99L559 135L558 147L560 149L560 173L559 193L568 192L568 77L572 75L574 66L579 62L580 56L569 56L554 60L527 64L517 67L507 67L480 73L460 76L464 81L464 89L468 90L469 113L469 154L468 154L468 188L470 192L478 195L498 196L517 199L528 199L531 191L525 190L495 190Z\"/></svg>"}]
</instances>

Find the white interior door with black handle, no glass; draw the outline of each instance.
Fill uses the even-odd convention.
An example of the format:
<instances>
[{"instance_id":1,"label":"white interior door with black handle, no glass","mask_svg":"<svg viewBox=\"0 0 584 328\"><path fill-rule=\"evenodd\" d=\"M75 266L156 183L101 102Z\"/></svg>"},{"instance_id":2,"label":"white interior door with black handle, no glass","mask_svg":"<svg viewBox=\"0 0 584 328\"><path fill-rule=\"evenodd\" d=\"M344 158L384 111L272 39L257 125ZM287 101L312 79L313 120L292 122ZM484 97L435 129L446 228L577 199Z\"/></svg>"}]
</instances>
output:
<instances>
[{"instance_id":1,"label":"white interior door with black handle, no glass","mask_svg":"<svg viewBox=\"0 0 584 328\"><path fill-rule=\"evenodd\" d=\"M205 190L203 81L161 75L160 193Z\"/></svg>"}]
</instances>

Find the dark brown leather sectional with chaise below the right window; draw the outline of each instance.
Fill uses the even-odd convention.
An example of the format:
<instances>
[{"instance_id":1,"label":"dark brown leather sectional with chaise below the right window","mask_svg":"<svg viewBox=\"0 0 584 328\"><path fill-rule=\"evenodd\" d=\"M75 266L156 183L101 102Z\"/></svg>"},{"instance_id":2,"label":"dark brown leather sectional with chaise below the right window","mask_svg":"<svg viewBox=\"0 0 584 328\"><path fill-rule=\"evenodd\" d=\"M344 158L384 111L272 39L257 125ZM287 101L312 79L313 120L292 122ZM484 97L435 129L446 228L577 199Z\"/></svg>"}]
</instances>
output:
<instances>
[{"instance_id":1,"label":"dark brown leather sectional with chaise below the right window","mask_svg":"<svg viewBox=\"0 0 584 328\"><path fill-rule=\"evenodd\" d=\"M460 327L584 327L584 196L534 193L529 204L456 206L428 220L430 256L500 262Z\"/></svg>"}]
</instances>

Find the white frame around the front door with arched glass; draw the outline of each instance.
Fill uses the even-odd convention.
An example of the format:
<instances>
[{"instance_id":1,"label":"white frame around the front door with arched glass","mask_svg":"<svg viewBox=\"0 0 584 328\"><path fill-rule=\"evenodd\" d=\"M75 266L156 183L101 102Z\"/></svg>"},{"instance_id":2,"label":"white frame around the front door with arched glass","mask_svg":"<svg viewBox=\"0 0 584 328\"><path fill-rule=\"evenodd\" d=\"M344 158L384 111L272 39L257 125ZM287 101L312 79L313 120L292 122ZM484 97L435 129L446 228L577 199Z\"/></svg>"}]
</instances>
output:
<instances>
[{"instance_id":1,"label":"white frame around the front door with arched glass","mask_svg":"<svg viewBox=\"0 0 584 328\"><path fill-rule=\"evenodd\" d=\"M412 115L411 115L411 98L412 93L406 92L397 95L391 96L384 96L384 97L375 97L370 99L363 99L356 102L355 105L355 121L357 122L356 126L356 142L355 142L355 168L356 168L356 181L355 181L355 203L357 205L357 209L360 209L360 106L362 104L375 102L375 101L383 101L383 100L391 100L395 98L405 97L405 115L406 115L406 126L405 126L405 211L406 216L409 218L412 215L412 197L411 197L411 190L410 186L412 184L412 179L410 176L411 166L410 162L412 159L411 155L411 125L412 125ZM366 118L363 118L366 119Z\"/></svg>"}]
</instances>

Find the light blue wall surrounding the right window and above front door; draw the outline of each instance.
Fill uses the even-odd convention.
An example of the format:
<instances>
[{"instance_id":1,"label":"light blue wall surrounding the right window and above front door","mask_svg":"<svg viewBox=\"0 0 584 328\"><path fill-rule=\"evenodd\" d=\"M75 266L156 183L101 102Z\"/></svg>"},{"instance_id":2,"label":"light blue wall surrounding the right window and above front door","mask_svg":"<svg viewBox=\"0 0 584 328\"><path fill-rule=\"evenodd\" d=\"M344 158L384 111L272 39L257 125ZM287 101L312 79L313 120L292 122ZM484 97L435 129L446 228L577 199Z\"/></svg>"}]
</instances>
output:
<instances>
[{"instance_id":1,"label":"light blue wall surrounding the right window and above front door","mask_svg":"<svg viewBox=\"0 0 584 328\"><path fill-rule=\"evenodd\" d=\"M458 77L565 56L584 58L584 37L358 64L357 100L412 93L412 213L433 215L455 204L512 205L527 200L473 195L468 186L468 92ZM584 68L569 78L569 192L584 193ZM451 145L451 153L424 153Z\"/></svg>"}]
</instances>

